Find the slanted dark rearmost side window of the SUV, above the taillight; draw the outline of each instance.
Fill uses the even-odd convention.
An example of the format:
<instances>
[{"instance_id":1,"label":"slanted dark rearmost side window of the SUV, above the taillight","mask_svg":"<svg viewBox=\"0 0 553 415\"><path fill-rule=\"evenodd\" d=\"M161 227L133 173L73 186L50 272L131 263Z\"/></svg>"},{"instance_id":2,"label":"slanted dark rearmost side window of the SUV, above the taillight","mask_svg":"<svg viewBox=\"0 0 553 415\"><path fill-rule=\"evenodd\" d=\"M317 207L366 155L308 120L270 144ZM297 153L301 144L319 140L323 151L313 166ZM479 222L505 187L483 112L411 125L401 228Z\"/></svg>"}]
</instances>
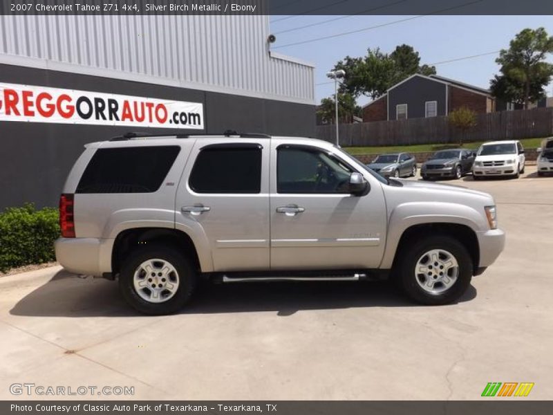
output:
<instances>
[{"instance_id":1,"label":"slanted dark rearmost side window of the SUV, above the taillight","mask_svg":"<svg viewBox=\"0 0 553 415\"><path fill-rule=\"evenodd\" d=\"M156 192L179 151L178 146L97 149L77 193Z\"/></svg>"}]
</instances>

